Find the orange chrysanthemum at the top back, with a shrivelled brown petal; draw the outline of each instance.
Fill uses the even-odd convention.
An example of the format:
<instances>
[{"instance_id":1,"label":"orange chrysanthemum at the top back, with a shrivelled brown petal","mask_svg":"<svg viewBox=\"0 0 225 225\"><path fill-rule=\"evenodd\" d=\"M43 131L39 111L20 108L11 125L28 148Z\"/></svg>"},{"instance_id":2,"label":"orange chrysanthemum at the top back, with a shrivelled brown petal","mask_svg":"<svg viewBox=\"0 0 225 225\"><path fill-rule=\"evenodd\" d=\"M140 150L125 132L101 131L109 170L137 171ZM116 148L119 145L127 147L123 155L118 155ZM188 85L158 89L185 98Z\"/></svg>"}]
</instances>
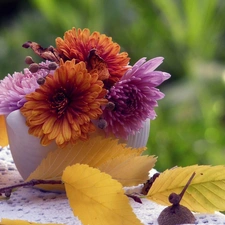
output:
<instances>
[{"instance_id":1,"label":"orange chrysanthemum at the top back, with a shrivelled brown petal","mask_svg":"<svg viewBox=\"0 0 225 225\"><path fill-rule=\"evenodd\" d=\"M127 71L130 58L126 52L120 53L120 46L111 37L89 29L72 28L64 34L64 39L56 38L56 48L64 60L84 61L87 68L97 69L100 79L115 83Z\"/></svg>"}]
</instances>

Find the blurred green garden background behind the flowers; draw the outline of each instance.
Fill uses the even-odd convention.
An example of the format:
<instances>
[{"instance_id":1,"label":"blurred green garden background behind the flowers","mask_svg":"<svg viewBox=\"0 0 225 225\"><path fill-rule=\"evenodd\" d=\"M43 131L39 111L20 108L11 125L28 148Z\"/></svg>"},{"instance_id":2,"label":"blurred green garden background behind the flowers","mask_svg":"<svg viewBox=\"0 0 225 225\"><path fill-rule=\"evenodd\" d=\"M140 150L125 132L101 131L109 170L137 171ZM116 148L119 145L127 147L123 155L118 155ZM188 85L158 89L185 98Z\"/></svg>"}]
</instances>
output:
<instances>
[{"instance_id":1,"label":"blurred green garden background behind the flowers","mask_svg":"<svg viewBox=\"0 0 225 225\"><path fill-rule=\"evenodd\" d=\"M151 122L156 168L225 164L224 11L224 0L1 0L0 77L35 58L21 47L28 40L54 45L72 27L105 33L131 64L163 56L172 75Z\"/></svg>"}]
</instances>

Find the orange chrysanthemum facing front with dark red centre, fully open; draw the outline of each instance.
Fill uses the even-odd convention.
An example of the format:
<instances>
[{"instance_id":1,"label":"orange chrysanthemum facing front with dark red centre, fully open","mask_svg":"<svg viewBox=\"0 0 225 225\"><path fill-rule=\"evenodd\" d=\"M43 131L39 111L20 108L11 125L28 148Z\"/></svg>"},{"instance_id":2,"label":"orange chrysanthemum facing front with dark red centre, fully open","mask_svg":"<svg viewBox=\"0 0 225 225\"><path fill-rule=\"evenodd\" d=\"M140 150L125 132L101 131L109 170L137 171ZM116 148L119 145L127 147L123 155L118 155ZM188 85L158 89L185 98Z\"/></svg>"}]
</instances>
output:
<instances>
[{"instance_id":1,"label":"orange chrysanthemum facing front with dark red centre, fully open","mask_svg":"<svg viewBox=\"0 0 225 225\"><path fill-rule=\"evenodd\" d=\"M84 62L61 61L54 75L26 96L21 108L26 117L29 133L41 138L42 145L55 140L60 147L74 144L78 139L87 140L95 130L92 119L101 114L106 90L98 73L89 73Z\"/></svg>"}]
</instances>

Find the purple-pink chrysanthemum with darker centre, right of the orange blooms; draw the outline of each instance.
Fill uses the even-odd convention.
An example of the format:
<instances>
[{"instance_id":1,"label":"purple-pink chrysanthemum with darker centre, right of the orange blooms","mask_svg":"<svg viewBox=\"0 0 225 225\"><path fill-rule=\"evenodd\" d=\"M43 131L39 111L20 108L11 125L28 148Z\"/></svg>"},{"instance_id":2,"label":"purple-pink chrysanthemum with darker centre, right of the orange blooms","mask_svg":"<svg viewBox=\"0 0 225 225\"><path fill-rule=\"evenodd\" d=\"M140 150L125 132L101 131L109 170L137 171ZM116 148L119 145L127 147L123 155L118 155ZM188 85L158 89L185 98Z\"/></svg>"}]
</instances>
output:
<instances>
[{"instance_id":1,"label":"purple-pink chrysanthemum with darker centre, right of the orange blooms","mask_svg":"<svg viewBox=\"0 0 225 225\"><path fill-rule=\"evenodd\" d=\"M147 118L155 119L157 100L164 97L156 87L170 78L168 73L154 71L162 62L162 57L147 62L141 58L109 90L106 98L114 108L106 107L103 112L107 134L126 140L142 128Z\"/></svg>"}]
</instances>

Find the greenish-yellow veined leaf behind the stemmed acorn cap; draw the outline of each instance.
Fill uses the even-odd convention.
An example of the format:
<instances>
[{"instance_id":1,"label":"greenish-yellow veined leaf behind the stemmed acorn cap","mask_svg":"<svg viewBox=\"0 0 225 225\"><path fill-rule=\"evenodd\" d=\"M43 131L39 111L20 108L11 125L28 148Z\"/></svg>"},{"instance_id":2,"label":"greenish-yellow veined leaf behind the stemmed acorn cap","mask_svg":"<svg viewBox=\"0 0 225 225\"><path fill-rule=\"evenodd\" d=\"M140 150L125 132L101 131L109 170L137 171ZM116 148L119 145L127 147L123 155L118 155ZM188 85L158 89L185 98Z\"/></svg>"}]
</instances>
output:
<instances>
[{"instance_id":1,"label":"greenish-yellow veined leaf behind the stemmed acorn cap","mask_svg":"<svg viewBox=\"0 0 225 225\"><path fill-rule=\"evenodd\" d=\"M171 205L168 196L179 194L190 176L196 173L180 204L195 212L225 210L225 166L188 166L166 170L150 188L147 198L159 204Z\"/></svg>"}]
</instances>

